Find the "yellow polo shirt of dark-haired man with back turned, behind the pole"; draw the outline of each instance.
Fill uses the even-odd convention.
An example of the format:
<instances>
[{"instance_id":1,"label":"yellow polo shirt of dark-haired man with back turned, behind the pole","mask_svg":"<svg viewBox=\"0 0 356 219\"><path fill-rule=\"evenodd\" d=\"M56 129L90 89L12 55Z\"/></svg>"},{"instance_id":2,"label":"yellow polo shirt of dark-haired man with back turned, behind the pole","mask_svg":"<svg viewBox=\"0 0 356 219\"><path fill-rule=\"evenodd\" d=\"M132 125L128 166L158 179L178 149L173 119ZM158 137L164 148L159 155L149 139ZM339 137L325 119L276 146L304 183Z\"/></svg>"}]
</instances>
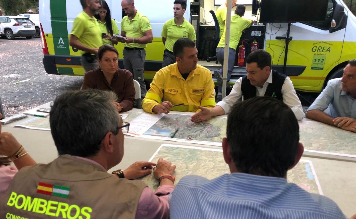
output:
<instances>
[{"instance_id":1,"label":"yellow polo shirt of dark-haired man with back turned, behind the pole","mask_svg":"<svg viewBox=\"0 0 356 219\"><path fill-rule=\"evenodd\" d=\"M230 28L230 45L229 48L236 49L239 45L242 31L251 26L251 20L242 18L239 15L234 14L231 17L231 28ZM225 28L224 33L220 38L218 47L225 47Z\"/></svg>"}]
</instances>

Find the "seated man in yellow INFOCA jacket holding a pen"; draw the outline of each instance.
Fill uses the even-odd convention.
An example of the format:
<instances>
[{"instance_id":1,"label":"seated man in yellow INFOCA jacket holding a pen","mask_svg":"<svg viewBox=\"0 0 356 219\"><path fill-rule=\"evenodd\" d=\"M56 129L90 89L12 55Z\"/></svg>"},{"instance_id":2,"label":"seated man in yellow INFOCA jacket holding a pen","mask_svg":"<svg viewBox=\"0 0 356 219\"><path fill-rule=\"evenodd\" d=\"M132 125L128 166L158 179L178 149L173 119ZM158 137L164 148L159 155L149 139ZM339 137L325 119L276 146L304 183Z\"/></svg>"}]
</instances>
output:
<instances>
[{"instance_id":1,"label":"seated man in yellow INFOCA jacket holding a pen","mask_svg":"<svg viewBox=\"0 0 356 219\"><path fill-rule=\"evenodd\" d=\"M213 108L213 78L208 69L197 65L198 50L195 43L191 39L180 38L173 45L173 53L177 62L156 73L151 88L142 100L143 110L168 114L170 110L197 112L198 106Z\"/></svg>"}]
</instances>

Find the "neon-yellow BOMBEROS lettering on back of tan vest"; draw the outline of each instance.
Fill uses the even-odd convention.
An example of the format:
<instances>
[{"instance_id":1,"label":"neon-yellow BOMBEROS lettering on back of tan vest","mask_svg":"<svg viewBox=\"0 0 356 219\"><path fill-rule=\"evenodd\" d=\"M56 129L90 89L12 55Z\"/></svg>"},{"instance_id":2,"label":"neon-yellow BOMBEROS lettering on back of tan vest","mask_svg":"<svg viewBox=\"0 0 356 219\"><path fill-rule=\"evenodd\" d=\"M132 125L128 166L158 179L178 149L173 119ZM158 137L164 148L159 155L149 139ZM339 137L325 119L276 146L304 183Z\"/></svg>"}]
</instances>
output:
<instances>
[{"instance_id":1,"label":"neon-yellow BOMBEROS lettering on back of tan vest","mask_svg":"<svg viewBox=\"0 0 356 219\"><path fill-rule=\"evenodd\" d=\"M7 205L27 212L68 219L90 219L90 213L93 212L93 210L89 207L80 208L75 204L70 205L64 202L56 202L52 200L47 201L42 198L17 195L16 192L11 193L9 200L7 201ZM16 215L16 219L17 217L21 218L22 216Z\"/></svg>"}]
</instances>

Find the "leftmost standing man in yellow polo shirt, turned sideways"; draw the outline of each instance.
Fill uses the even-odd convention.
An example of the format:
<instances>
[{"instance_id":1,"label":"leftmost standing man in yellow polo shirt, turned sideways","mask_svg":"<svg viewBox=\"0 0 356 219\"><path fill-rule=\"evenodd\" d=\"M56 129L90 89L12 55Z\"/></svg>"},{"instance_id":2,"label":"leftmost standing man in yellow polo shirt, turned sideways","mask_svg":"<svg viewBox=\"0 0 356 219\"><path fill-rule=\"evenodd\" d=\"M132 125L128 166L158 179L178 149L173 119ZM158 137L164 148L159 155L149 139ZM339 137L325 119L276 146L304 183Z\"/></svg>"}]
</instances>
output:
<instances>
[{"instance_id":1,"label":"leftmost standing man in yellow polo shirt, turned sideways","mask_svg":"<svg viewBox=\"0 0 356 219\"><path fill-rule=\"evenodd\" d=\"M69 45L80 50L82 54L80 63L87 72L99 67L96 53L103 45L103 40L94 14L100 8L100 3L99 0L80 0L80 3L83 11L74 19Z\"/></svg>"}]
</instances>

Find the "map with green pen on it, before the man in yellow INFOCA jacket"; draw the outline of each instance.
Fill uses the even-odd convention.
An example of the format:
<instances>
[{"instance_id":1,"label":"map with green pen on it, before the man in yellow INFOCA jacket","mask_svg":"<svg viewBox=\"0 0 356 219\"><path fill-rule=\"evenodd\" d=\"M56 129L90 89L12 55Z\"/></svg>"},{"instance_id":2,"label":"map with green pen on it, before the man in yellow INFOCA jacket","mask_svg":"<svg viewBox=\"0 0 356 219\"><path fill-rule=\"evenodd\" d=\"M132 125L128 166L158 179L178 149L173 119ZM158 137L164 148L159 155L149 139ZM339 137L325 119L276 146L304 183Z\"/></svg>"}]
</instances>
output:
<instances>
[{"instance_id":1,"label":"map with green pen on it, before the man in yellow INFOCA jacket","mask_svg":"<svg viewBox=\"0 0 356 219\"><path fill-rule=\"evenodd\" d=\"M125 114L128 115L124 121L131 122L129 133L126 134L130 136L214 146L221 146L223 138L226 137L226 117L213 117L194 123L190 121L192 115L189 114Z\"/></svg>"}]
</instances>

